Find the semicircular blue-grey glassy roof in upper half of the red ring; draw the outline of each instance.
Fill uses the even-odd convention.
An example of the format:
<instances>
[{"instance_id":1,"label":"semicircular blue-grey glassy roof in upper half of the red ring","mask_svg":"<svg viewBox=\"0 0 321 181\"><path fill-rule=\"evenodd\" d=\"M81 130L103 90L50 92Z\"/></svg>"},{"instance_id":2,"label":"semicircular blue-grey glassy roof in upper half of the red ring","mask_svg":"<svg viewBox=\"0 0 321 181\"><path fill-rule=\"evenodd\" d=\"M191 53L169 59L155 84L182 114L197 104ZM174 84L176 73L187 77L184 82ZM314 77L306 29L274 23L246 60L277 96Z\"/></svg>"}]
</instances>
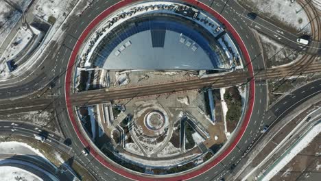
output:
<instances>
[{"instance_id":1,"label":"semicircular blue-grey glassy roof in upper half of the red ring","mask_svg":"<svg viewBox=\"0 0 321 181\"><path fill-rule=\"evenodd\" d=\"M212 70L219 59L209 40L187 19L150 17L119 25L95 50L108 70Z\"/></svg>"}]
</instances>

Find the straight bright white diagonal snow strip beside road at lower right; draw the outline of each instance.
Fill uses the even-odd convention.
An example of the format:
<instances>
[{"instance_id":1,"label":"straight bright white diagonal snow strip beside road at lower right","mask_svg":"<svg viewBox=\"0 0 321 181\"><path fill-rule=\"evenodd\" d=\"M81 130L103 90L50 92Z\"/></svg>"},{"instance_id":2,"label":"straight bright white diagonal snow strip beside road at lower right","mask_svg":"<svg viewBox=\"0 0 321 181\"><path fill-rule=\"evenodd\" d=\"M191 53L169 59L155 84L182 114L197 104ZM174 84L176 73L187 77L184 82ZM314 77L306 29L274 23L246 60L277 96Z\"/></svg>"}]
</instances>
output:
<instances>
[{"instance_id":1,"label":"straight bright white diagonal snow strip beside road at lower right","mask_svg":"<svg viewBox=\"0 0 321 181\"><path fill-rule=\"evenodd\" d=\"M271 180L278 171L280 171L285 165L287 165L288 162L290 162L294 156L296 156L298 153L302 151L302 149L305 149L313 141L313 139L318 136L321 132L321 123L318 123L318 125L314 126L305 136L303 136L300 141L294 145L291 149L289 149L281 158L276 160L276 165L268 171L268 173L265 173L264 177L262 178L262 181L265 180Z\"/></svg>"}]
</instances>

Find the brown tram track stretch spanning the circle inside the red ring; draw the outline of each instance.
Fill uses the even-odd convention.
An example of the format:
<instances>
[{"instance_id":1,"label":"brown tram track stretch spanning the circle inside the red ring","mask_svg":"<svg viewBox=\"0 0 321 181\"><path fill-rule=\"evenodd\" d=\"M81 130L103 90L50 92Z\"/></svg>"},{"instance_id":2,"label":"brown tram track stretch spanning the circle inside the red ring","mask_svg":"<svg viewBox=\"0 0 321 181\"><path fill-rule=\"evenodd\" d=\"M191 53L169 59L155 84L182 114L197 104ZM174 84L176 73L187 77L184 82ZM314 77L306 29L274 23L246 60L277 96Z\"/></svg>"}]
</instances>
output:
<instances>
[{"instance_id":1,"label":"brown tram track stretch spanning the circle inside the red ring","mask_svg":"<svg viewBox=\"0 0 321 181\"><path fill-rule=\"evenodd\" d=\"M250 78L251 77L247 72L237 72L228 73L224 76L207 77L182 82L169 82L167 84L137 86L132 88L111 88L108 90L91 90L71 95L71 103L80 106L99 103L102 102L102 100L112 101L115 99L129 99L133 97L177 93L209 87L222 88L246 83Z\"/></svg>"}]
</instances>

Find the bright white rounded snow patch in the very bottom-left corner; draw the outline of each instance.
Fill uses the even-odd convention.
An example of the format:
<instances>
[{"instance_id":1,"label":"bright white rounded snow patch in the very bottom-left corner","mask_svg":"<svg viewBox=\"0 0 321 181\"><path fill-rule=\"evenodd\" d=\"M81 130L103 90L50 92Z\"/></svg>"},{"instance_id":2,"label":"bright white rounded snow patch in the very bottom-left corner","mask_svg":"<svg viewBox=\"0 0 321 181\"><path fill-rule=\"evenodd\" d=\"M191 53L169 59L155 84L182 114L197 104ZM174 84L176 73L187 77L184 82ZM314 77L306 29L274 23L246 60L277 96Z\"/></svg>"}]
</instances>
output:
<instances>
[{"instance_id":1,"label":"bright white rounded snow patch in the very bottom-left corner","mask_svg":"<svg viewBox=\"0 0 321 181\"><path fill-rule=\"evenodd\" d=\"M24 169L10 166L0 166L0 176L2 181L40 181L43 180L33 173Z\"/></svg>"}]
</instances>

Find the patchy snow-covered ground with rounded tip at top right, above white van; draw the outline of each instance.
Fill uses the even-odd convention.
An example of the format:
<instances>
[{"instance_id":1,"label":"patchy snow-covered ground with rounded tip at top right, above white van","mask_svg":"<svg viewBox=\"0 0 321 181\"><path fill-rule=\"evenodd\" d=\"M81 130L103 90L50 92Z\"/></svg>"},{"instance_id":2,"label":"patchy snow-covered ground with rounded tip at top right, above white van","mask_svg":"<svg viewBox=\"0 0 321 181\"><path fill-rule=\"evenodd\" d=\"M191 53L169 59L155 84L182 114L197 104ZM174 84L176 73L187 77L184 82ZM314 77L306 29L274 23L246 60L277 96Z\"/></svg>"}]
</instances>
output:
<instances>
[{"instance_id":1,"label":"patchy snow-covered ground with rounded tip at top right, above white van","mask_svg":"<svg viewBox=\"0 0 321 181\"><path fill-rule=\"evenodd\" d=\"M311 32L309 19L300 4L290 0L237 0L241 4L247 4L248 8L258 10L259 14L268 19L276 19L289 27L294 27L298 31ZM320 0L319 0L320 1Z\"/></svg>"}]
</instances>

